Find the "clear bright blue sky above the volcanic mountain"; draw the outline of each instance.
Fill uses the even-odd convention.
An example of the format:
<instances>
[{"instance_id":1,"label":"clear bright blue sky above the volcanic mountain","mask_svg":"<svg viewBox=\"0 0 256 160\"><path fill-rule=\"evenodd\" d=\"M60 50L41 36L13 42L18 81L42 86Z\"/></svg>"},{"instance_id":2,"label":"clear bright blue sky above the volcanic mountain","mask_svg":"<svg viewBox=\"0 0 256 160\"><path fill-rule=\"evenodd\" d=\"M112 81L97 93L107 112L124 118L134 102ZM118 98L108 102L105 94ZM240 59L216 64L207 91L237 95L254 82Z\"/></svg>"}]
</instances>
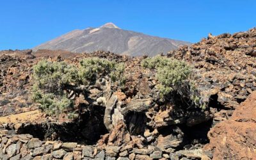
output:
<instances>
[{"instance_id":1,"label":"clear bright blue sky above the volcanic mountain","mask_svg":"<svg viewBox=\"0 0 256 160\"><path fill-rule=\"evenodd\" d=\"M5 0L0 50L28 49L72 31L113 22L148 35L198 42L208 33L256 26L255 0Z\"/></svg>"}]
</instances>

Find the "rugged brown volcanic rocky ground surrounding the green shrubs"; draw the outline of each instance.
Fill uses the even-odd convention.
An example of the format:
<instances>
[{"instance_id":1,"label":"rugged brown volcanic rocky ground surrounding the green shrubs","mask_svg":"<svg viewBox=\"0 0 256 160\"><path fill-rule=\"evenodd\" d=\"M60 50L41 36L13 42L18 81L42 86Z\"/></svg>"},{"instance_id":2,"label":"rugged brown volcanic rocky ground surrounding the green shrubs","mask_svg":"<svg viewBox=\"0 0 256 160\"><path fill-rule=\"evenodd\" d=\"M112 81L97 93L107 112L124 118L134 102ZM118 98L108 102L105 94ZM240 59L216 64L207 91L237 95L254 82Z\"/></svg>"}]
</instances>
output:
<instances>
[{"instance_id":1,"label":"rugged brown volcanic rocky ground surrounding the green shrubs","mask_svg":"<svg viewBox=\"0 0 256 160\"><path fill-rule=\"evenodd\" d=\"M209 35L190 47L169 52L168 57L187 61L196 68L196 86L208 102L204 110L161 102L155 73L141 68L145 57L104 51L1 51L0 157L253 159L255 51L256 29L251 29L234 35ZM33 65L42 58L76 64L92 56L124 62L124 88L92 86L90 97L97 100L104 93L106 105L86 106L83 99L77 99L77 105L84 105L79 120L40 113L30 96ZM247 148L246 152L241 148Z\"/></svg>"}]
</instances>

